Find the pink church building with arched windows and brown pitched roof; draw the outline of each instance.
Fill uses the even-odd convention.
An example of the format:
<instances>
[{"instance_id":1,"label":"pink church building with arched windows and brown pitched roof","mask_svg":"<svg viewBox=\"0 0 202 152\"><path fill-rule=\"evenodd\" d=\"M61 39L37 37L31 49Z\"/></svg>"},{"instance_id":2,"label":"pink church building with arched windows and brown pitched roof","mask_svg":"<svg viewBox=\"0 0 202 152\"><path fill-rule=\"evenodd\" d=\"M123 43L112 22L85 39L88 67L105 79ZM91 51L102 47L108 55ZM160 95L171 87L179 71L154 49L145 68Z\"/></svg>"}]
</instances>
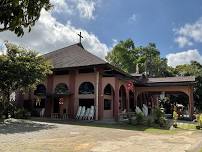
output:
<instances>
[{"instance_id":1,"label":"pink church building with arched windows and brown pitched roof","mask_svg":"<svg viewBox=\"0 0 202 152\"><path fill-rule=\"evenodd\" d=\"M44 109L45 117L74 119L80 106L95 106L95 120L118 120L121 112L135 111L137 105L148 105L147 101L143 103L143 99L138 97L144 91L162 91L162 82L150 83L148 80L143 83L145 80L140 76L125 73L89 53L81 43L47 53L44 57L53 64L53 74L36 86L34 92L19 93L17 97L18 105L30 109L33 116L40 115ZM186 90L195 81L182 80L185 81L178 80L174 84L170 81L169 84L187 86ZM156 84L159 84L158 88ZM154 87L153 90L151 87ZM173 87L173 90L165 91L176 89ZM183 89L180 91L183 92ZM190 115L193 113L192 94L188 92Z\"/></svg>"}]
</instances>

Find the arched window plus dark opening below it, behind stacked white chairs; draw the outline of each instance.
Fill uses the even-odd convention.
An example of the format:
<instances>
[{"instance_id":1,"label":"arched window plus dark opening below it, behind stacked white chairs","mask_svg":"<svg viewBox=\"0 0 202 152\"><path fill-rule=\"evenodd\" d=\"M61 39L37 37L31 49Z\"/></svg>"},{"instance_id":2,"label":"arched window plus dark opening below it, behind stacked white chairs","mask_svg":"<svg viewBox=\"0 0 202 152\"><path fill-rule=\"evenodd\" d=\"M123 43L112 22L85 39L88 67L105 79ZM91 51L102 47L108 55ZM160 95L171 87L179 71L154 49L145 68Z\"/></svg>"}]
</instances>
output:
<instances>
[{"instance_id":1,"label":"arched window plus dark opening below it, behind stacked white chairs","mask_svg":"<svg viewBox=\"0 0 202 152\"><path fill-rule=\"evenodd\" d=\"M94 106L94 85L91 82L83 82L79 86L79 106L90 108Z\"/></svg>"}]
</instances>

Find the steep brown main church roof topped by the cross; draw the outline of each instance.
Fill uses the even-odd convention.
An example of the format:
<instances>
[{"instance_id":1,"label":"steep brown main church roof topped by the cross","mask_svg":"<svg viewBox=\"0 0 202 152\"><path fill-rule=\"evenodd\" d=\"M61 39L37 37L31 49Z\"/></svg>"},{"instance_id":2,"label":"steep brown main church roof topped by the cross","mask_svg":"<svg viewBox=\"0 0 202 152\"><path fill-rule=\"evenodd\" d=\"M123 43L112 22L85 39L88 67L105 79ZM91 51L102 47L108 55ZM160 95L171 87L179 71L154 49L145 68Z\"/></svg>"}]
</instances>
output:
<instances>
[{"instance_id":1,"label":"steep brown main church roof topped by the cross","mask_svg":"<svg viewBox=\"0 0 202 152\"><path fill-rule=\"evenodd\" d=\"M107 64L86 51L80 43L47 53L44 57L51 61L54 69Z\"/></svg>"}]
</instances>

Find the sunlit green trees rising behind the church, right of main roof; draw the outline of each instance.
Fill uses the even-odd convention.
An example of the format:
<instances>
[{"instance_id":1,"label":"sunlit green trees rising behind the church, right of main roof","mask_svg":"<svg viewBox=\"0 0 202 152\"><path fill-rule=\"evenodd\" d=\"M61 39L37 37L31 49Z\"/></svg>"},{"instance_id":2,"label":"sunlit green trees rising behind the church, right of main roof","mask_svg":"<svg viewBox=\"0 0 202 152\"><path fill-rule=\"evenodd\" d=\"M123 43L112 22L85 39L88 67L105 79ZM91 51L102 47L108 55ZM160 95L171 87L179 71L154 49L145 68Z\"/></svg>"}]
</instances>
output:
<instances>
[{"instance_id":1,"label":"sunlit green trees rising behind the church, right of main roof","mask_svg":"<svg viewBox=\"0 0 202 152\"><path fill-rule=\"evenodd\" d=\"M167 59L160 57L160 52L154 43L149 43L145 47L137 47L131 39L120 41L107 54L106 60L129 73L136 72L138 65L139 72L146 72L149 76L172 75L171 70L167 66Z\"/></svg>"}]
</instances>

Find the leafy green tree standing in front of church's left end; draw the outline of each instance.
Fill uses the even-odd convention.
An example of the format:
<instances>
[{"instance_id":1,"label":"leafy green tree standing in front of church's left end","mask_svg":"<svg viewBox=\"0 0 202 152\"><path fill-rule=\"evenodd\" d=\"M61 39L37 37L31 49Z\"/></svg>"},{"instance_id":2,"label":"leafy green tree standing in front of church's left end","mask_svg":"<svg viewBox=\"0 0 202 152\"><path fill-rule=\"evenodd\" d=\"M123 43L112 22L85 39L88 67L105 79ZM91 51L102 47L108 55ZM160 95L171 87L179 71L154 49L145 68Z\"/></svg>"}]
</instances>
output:
<instances>
[{"instance_id":1,"label":"leafy green tree standing in front of church's left end","mask_svg":"<svg viewBox=\"0 0 202 152\"><path fill-rule=\"evenodd\" d=\"M33 88L51 74L52 66L34 51L14 44L6 44L6 47L7 54L0 55L0 97L7 114L11 93Z\"/></svg>"}]
</instances>

